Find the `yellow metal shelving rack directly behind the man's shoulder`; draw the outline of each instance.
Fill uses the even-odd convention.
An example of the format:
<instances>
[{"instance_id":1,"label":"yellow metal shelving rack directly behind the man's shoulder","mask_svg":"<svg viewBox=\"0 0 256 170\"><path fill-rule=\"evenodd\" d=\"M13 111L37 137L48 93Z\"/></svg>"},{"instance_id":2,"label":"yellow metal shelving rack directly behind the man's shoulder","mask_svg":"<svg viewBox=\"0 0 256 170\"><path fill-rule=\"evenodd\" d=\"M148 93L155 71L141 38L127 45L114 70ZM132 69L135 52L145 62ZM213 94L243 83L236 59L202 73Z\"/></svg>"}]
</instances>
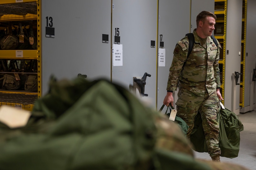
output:
<instances>
[{"instance_id":1,"label":"yellow metal shelving rack directly behind the man's shoulder","mask_svg":"<svg viewBox=\"0 0 256 170\"><path fill-rule=\"evenodd\" d=\"M219 60L220 71L222 71L221 81L221 95L224 98L224 87L225 87L225 55L226 55L226 23L227 23L227 0L215 0L214 14L217 16L217 23L224 23L223 35L214 35L218 41L223 44L223 59ZM215 28L216 29L216 28ZM215 34L215 33L214 33ZM221 67L222 66L222 67ZM222 70L221 70L222 68ZM222 101L224 104L224 101Z\"/></svg>"}]
</instances>

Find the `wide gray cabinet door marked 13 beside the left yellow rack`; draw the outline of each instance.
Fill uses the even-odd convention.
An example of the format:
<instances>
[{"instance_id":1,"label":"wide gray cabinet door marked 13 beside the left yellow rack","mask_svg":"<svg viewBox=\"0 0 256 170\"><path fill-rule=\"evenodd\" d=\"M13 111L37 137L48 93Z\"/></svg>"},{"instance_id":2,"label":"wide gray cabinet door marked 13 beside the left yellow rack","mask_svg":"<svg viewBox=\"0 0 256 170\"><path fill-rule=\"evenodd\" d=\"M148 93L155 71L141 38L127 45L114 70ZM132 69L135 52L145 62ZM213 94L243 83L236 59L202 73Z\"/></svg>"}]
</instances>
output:
<instances>
[{"instance_id":1,"label":"wide gray cabinet door marked 13 beside the left yellow rack","mask_svg":"<svg viewBox=\"0 0 256 170\"><path fill-rule=\"evenodd\" d=\"M41 11L42 93L52 74L58 79L80 73L110 80L111 0L44 0ZM54 38L46 37L53 28ZM102 34L108 35L108 43L102 42Z\"/></svg>"}]
</instances>

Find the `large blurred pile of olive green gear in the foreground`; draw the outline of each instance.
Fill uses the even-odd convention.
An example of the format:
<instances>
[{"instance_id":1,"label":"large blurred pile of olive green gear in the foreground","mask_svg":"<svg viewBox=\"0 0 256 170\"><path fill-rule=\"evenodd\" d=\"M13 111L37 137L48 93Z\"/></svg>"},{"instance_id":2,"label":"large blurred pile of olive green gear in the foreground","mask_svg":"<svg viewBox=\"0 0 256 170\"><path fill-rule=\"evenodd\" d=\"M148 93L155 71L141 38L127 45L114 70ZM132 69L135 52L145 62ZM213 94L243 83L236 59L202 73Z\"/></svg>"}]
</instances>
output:
<instances>
[{"instance_id":1,"label":"large blurred pile of olive green gear in the foreground","mask_svg":"<svg viewBox=\"0 0 256 170\"><path fill-rule=\"evenodd\" d=\"M109 81L52 78L31 114L25 127L0 123L0 170L245 169L194 159L177 124Z\"/></svg>"}]
</instances>

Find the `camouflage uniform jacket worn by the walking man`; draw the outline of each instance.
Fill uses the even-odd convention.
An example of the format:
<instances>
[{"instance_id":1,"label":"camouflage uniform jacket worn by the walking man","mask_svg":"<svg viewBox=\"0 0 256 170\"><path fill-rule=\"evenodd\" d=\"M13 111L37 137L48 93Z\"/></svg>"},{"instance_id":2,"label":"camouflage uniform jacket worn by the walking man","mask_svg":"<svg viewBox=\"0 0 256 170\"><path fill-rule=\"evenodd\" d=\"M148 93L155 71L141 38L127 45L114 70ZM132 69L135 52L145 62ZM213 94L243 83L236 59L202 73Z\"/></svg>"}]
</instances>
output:
<instances>
[{"instance_id":1,"label":"camouflage uniform jacket worn by the walking man","mask_svg":"<svg viewBox=\"0 0 256 170\"><path fill-rule=\"evenodd\" d=\"M196 29L193 31L195 43L191 54L187 57L189 41L184 37L173 51L173 62L170 67L167 90L180 87L193 92L197 96L204 96L205 91L212 94L220 87L219 76L219 48L211 37L207 37L207 45L200 40Z\"/></svg>"}]
</instances>

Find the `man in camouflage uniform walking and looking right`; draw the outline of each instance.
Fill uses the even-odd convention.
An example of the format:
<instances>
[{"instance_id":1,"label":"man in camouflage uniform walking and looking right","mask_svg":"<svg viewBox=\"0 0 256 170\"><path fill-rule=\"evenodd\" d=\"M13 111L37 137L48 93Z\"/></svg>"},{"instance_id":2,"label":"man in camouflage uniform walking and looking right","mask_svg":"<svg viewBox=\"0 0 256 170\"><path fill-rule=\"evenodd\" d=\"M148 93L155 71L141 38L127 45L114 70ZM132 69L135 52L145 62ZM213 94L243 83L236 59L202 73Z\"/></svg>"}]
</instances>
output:
<instances>
[{"instance_id":1,"label":"man in camouflage uniform walking and looking right","mask_svg":"<svg viewBox=\"0 0 256 170\"><path fill-rule=\"evenodd\" d=\"M216 15L208 11L200 12L196 17L197 28L193 31L195 42L191 54L188 54L189 41L184 37L178 41L170 67L167 94L164 104L173 106L173 91L179 92L177 115L189 126L187 138L194 127L195 116L200 111L208 153L213 161L220 161L218 147L219 125L217 112L220 93L219 48L210 37L214 30Z\"/></svg>"}]
</instances>

